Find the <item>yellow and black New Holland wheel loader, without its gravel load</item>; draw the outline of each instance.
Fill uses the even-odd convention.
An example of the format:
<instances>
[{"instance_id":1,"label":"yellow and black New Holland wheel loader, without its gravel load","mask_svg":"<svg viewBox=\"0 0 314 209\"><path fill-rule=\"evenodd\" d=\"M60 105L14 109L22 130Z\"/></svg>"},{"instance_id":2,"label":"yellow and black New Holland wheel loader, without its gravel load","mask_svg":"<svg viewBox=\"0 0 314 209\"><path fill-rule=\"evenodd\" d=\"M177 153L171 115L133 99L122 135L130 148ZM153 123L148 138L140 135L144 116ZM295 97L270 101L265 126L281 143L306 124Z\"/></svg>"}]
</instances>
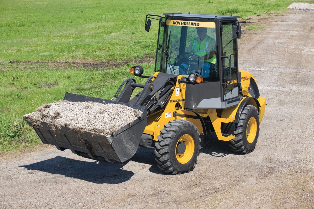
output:
<instances>
[{"instance_id":1,"label":"yellow and black New Holland wheel loader, without its gravel load","mask_svg":"<svg viewBox=\"0 0 314 209\"><path fill-rule=\"evenodd\" d=\"M252 152L265 98L260 96L254 77L238 69L241 22L225 15L148 14L147 32L152 21L158 25L155 73L145 76L140 65L130 69L133 76L145 78L145 84L133 77L126 79L111 100L68 92L64 97L71 102L123 104L143 112L138 119L110 135L68 127L52 129L44 122L34 125L28 121L29 125L43 143L100 161L125 162L138 147L154 149L158 167L169 174L191 171L204 137L211 132L229 142L233 152ZM198 40L198 30L210 38ZM205 41L205 48L200 49L202 43L194 40ZM202 53L191 51L193 47ZM140 89L139 93L134 89Z\"/></svg>"}]
</instances>

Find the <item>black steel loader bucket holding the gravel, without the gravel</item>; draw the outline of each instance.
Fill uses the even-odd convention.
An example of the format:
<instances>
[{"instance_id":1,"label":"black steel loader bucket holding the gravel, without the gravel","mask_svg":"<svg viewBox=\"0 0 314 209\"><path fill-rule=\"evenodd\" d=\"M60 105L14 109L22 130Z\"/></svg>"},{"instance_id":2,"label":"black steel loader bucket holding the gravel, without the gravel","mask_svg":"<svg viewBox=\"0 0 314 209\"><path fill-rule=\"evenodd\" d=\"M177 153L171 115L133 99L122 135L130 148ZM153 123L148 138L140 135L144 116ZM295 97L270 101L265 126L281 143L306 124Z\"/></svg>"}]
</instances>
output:
<instances>
[{"instance_id":1,"label":"black steel loader bucket holding the gravel, without the gravel","mask_svg":"<svg viewBox=\"0 0 314 209\"><path fill-rule=\"evenodd\" d=\"M70 102L99 102L123 104L143 112L142 116L129 123L111 135L93 133L88 131L73 130L68 127L51 128L42 122L34 126L27 119L44 144L52 144L57 149L64 151L70 149L80 156L107 162L124 162L130 159L137 151L138 144L147 123L146 107L122 102L115 102L95 97L86 97L66 93L64 100Z\"/></svg>"}]
</instances>

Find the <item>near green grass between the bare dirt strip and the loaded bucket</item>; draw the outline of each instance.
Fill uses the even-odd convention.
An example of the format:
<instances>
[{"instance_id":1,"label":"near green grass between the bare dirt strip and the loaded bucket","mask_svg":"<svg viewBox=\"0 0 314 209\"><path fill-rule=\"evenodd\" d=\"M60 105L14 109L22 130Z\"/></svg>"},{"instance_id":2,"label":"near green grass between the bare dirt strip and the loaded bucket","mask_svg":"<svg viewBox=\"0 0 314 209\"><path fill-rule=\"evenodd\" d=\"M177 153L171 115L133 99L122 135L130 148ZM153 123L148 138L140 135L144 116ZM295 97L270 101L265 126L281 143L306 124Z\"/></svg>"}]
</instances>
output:
<instances>
[{"instance_id":1,"label":"near green grass between the bare dirt strip and the loaded bucket","mask_svg":"<svg viewBox=\"0 0 314 209\"><path fill-rule=\"evenodd\" d=\"M21 68L20 63L7 64L0 71L0 151L34 146L38 136L22 119L26 113L45 103L63 99L66 91L76 94L111 99L117 87L131 77L125 68L72 69L46 68L33 63ZM151 65L151 64L150 64ZM146 69L152 69L144 64ZM146 70L153 74L153 70ZM139 79L138 83L144 83Z\"/></svg>"}]
</instances>

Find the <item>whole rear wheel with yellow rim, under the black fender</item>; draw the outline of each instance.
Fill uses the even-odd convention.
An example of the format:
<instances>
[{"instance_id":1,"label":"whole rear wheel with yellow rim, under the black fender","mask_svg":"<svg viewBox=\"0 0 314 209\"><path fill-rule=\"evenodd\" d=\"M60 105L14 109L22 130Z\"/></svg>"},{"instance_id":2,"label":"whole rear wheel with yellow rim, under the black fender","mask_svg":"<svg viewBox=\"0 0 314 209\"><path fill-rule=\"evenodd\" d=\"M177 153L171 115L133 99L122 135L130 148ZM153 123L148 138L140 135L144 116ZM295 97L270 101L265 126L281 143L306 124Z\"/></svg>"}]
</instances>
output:
<instances>
[{"instance_id":1,"label":"whole rear wheel with yellow rim, under the black fender","mask_svg":"<svg viewBox=\"0 0 314 209\"><path fill-rule=\"evenodd\" d=\"M229 141L230 149L240 154L252 152L257 143L259 132L259 116L256 107L247 105L240 115L235 130L236 137Z\"/></svg>"}]
</instances>

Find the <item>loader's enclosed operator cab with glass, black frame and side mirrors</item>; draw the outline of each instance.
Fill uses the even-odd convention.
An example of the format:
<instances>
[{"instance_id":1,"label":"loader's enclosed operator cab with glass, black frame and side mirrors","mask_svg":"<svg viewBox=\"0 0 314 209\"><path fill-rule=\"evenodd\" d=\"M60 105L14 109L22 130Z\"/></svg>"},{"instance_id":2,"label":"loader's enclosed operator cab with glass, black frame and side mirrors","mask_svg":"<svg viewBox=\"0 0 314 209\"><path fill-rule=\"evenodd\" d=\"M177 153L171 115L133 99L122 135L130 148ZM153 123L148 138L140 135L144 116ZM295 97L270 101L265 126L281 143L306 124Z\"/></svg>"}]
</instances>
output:
<instances>
[{"instance_id":1,"label":"loader's enclosed operator cab with glass, black frame and side mirrors","mask_svg":"<svg viewBox=\"0 0 314 209\"><path fill-rule=\"evenodd\" d=\"M202 82L187 85L185 108L227 108L241 100L237 38L241 28L234 16L205 14L164 14L160 17L155 71L188 76ZM154 18L152 18L154 19ZM161 35L163 38L161 38Z\"/></svg>"}]
</instances>

